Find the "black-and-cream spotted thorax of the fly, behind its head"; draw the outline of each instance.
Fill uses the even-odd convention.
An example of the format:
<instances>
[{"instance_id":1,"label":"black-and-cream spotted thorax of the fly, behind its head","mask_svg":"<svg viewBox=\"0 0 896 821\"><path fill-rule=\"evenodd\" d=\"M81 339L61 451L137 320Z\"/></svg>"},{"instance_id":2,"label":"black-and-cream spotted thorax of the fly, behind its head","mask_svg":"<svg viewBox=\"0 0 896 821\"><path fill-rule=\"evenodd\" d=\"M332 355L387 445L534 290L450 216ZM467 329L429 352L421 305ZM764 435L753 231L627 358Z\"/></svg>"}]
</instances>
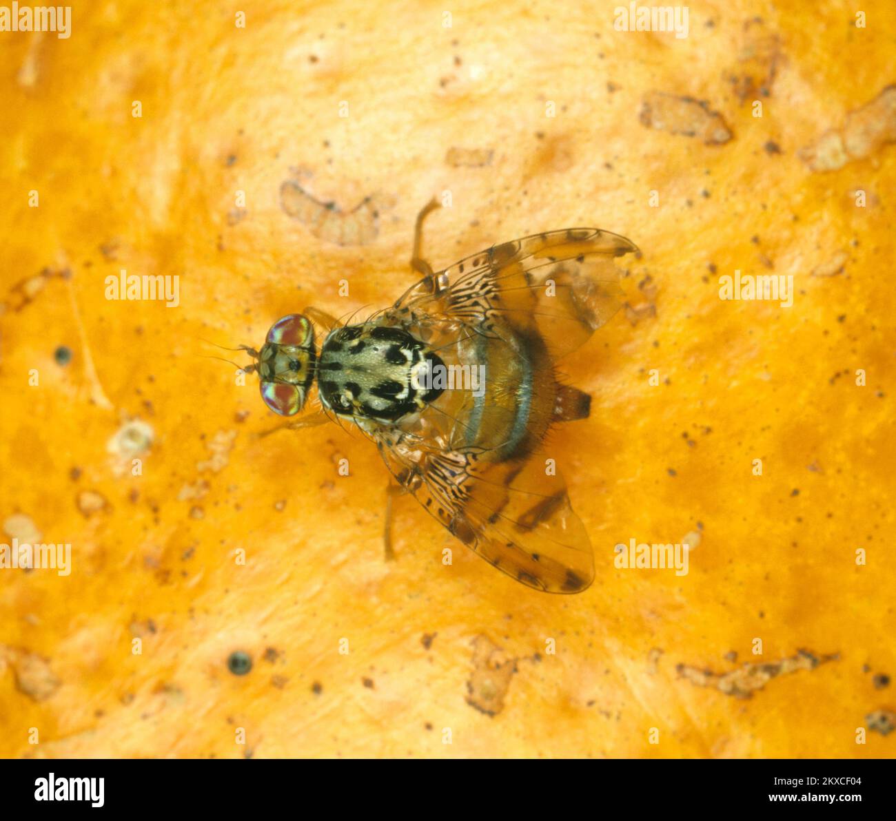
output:
<instances>
[{"instance_id":1,"label":"black-and-cream spotted thorax of the fly, behind its head","mask_svg":"<svg viewBox=\"0 0 896 821\"><path fill-rule=\"evenodd\" d=\"M401 328L349 325L324 339L318 365L323 404L337 414L396 422L441 395L444 363Z\"/></svg>"}]
</instances>

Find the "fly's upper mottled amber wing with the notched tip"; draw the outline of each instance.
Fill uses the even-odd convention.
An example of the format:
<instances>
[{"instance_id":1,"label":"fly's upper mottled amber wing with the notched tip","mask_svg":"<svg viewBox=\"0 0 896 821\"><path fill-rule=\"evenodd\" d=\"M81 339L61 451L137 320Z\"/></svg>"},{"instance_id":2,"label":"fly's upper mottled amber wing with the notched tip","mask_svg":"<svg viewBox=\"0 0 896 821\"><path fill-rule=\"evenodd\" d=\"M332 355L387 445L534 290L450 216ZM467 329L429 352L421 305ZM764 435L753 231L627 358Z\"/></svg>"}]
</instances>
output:
<instances>
[{"instance_id":1,"label":"fly's upper mottled amber wing with the notched tip","mask_svg":"<svg viewBox=\"0 0 896 821\"><path fill-rule=\"evenodd\" d=\"M461 321L477 333L538 332L554 356L581 346L625 296L614 259L638 252L624 236L566 228L493 245L421 279L391 310Z\"/></svg>"}]
</instances>

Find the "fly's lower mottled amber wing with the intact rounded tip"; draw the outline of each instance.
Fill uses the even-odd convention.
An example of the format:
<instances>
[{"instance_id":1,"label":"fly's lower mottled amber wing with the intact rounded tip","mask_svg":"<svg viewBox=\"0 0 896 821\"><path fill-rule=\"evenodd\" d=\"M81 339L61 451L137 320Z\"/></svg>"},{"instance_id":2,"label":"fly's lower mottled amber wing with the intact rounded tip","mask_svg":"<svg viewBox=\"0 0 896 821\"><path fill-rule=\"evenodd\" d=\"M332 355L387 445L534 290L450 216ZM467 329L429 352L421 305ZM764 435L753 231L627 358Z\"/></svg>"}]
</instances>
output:
<instances>
[{"instance_id":1,"label":"fly's lower mottled amber wing with the intact rounded tip","mask_svg":"<svg viewBox=\"0 0 896 821\"><path fill-rule=\"evenodd\" d=\"M373 438L395 479L483 559L526 586L580 593L594 558L566 485L545 460L490 461L481 447L434 447L397 429Z\"/></svg>"}]
</instances>

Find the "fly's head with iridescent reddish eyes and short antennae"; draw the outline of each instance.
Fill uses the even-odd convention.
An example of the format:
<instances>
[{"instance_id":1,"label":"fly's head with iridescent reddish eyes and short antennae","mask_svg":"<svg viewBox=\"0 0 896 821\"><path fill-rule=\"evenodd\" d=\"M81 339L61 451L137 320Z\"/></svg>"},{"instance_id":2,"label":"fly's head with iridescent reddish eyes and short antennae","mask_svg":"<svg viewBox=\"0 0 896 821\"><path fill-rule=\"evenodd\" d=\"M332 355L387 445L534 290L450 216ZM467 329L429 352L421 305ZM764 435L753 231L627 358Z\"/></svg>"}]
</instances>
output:
<instances>
[{"instance_id":1,"label":"fly's head with iridescent reddish eyes and short antennae","mask_svg":"<svg viewBox=\"0 0 896 821\"><path fill-rule=\"evenodd\" d=\"M271 325L260 351L243 349L255 360L245 370L258 373L264 404L275 414L296 415L305 406L317 370L311 321L290 313Z\"/></svg>"}]
</instances>

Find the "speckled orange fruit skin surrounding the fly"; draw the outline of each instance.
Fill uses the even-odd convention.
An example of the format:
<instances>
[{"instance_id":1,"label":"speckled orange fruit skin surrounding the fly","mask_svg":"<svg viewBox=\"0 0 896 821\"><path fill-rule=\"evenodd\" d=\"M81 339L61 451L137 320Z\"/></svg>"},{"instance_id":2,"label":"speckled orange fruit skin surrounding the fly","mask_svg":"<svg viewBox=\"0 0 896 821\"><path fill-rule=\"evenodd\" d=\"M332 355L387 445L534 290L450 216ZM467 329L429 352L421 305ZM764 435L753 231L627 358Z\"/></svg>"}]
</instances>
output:
<instances>
[{"instance_id":1,"label":"speckled orange fruit skin surrounding the fly","mask_svg":"<svg viewBox=\"0 0 896 821\"><path fill-rule=\"evenodd\" d=\"M891 757L857 740L896 709L892 124L829 172L800 154L896 81L889 5L857 28L691 4L681 39L612 4L461 0L450 28L439 4L240 5L245 28L121 0L73 4L68 39L0 33L0 519L72 545L69 576L0 574L0 755ZM647 127L655 92L733 136ZM375 228L290 217L288 180L374 198ZM385 562L375 449L258 438L254 377L202 358L247 362L202 339L259 346L307 304L390 304L443 192L436 268L561 227L642 249L629 310L562 364L593 396L549 445L584 594L514 584L409 499ZM179 304L107 299L121 269L179 277ZM735 270L792 276L792 307L719 299ZM134 420L151 445L110 452ZM694 533L686 576L614 567ZM698 674L800 650L833 657L750 669L749 697Z\"/></svg>"}]
</instances>

